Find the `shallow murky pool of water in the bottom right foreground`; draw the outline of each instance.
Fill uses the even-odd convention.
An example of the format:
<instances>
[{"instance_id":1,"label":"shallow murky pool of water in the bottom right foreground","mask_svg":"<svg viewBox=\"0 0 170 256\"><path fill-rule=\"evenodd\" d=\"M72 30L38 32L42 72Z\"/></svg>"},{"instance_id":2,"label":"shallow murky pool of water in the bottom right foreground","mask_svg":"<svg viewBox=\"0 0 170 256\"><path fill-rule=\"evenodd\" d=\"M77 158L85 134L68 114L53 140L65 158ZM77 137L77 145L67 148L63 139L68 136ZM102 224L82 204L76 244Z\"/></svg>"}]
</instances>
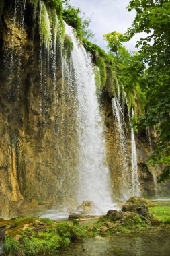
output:
<instances>
[{"instance_id":1,"label":"shallow murky pool of water in the bottom right foreground","mask_svg":"<svg viewBox=\"0 0 170 256\"><path fill-rule=\"evenodd\" d=\"M169 256L169 228L149 228L112 237L84 239L73 243L60 256Z\"/></svg>"}]
</instances>

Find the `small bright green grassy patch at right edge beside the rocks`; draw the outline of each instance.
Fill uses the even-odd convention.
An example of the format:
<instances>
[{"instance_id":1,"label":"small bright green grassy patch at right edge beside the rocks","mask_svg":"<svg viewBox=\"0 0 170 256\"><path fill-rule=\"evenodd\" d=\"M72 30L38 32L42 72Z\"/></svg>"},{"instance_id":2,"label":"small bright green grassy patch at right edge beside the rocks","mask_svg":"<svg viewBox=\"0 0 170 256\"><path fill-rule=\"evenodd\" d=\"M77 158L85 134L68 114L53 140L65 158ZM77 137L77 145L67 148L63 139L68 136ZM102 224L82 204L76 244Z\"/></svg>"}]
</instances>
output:
<instances>
[{"instance_id":1,"label":"small bright green grassy patch at right edge beside the rocks","mask_svg":"<svg viewBox=\"0 0 170 256\"><path fill-rule=\"evenodd\" d=\"M163 223L170 224L170 207L169 206L157 206L149 209L155 218Z\"/></svg>"}]
</instances>

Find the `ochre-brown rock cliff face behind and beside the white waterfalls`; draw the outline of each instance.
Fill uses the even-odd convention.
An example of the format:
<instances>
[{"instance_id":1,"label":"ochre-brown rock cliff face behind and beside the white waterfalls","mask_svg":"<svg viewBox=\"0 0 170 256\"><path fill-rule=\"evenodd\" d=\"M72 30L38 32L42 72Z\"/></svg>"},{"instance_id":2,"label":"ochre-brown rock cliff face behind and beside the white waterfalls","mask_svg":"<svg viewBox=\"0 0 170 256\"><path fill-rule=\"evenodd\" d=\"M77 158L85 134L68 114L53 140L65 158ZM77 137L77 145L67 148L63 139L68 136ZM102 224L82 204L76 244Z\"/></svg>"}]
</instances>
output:
<instances>
[{"instance_id":1,"label":"ochre-brown rock cliff face behind and beside the white waterfalls","mask_svg":"<svg viewBox=\"0 0 170 256\"><path fill-rule=\"evenodd\" d=\"M68 46L65 40L62 51L58 29L49 54L40 43L38 7L24 3L4 1L0 11L0 216L5 218L65 205L77 191L77 104L62 68ZM107 92L101 101L113 197L119 198L118 133ZM153 196L148 142L145 135L137 136L140 189Z\"/></svg>"}]
</instances>

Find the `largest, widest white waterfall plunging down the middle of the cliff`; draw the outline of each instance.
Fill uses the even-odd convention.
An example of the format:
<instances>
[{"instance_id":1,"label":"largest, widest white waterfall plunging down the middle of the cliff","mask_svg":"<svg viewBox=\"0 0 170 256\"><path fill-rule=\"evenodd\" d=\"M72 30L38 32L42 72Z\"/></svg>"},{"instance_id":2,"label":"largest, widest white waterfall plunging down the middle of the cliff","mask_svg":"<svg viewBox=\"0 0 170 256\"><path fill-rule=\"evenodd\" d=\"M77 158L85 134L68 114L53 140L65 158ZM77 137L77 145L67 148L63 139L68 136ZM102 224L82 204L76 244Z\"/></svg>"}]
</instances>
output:
<instances>
[{"instance_id":1,"label":"largest, widest white waterfall plunging down the middle of the cliff","mask_svg":"<svg viewBox=\"0 0 170 256\"><path fill-rule=\"evenodd\" d=\"M77 201L93 201L105 209L112 203L109 172L105 164L105 141L95 75L91 57L79 44L73 28L65 24L66 34L73 41L71 60L77 86L77 123L79 135L79 163ZM109 206L108 206L109 208Z\"/></svg>"}]
</instances>

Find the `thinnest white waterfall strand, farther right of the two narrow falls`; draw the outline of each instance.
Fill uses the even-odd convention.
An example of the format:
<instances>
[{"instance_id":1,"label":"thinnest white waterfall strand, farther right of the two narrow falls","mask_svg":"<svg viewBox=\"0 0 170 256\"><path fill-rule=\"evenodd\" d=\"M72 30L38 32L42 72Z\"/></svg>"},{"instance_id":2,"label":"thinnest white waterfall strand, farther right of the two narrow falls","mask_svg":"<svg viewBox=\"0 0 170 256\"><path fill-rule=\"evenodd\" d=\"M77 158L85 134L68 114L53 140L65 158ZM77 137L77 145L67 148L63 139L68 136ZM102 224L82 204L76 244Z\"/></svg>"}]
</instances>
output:
<instances>
[{"instance_id":1,"label":"thinnest white waterfall strand, farther right of the two narrow falls","mask_svg":"<svg viewBox=\"0 0 170 256\"><path fill-rule=\"evenodd\" d=\"M134 110L132 108L132 118L133 117L134 117ZM131 126L131 143L132 143L132 195L140 196L136 143L134 138L134 128L132 126Z\"/></svg>"}]
</instances>

